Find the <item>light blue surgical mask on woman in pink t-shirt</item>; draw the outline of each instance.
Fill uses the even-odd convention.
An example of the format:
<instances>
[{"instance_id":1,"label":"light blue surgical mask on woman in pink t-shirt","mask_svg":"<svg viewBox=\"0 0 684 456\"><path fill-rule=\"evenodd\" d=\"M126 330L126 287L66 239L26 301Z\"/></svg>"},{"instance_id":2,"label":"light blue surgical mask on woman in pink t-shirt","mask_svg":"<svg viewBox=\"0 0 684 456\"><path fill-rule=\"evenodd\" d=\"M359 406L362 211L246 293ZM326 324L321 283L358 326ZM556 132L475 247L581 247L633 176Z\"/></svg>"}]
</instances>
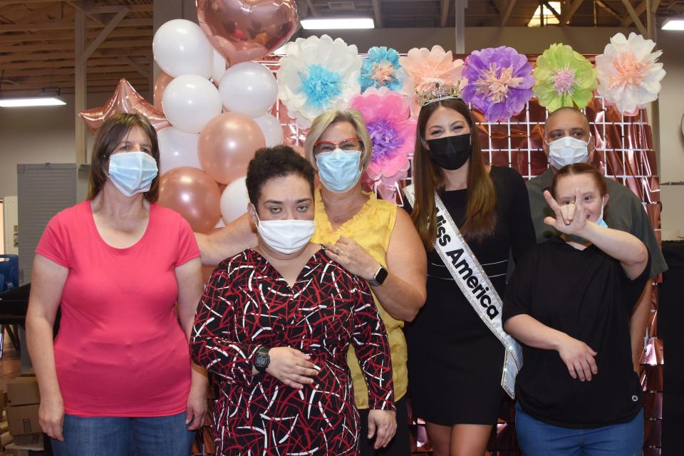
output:
<instances>
[{"instance_id":1,"label":"light blue surgical mask on woman in pink t-shirt","mask_svg":"<svg viewBox=\"0 0 684 456\"><path fill-rule=\"evenodd\" d=\"M127 197L150 191L157 162L145 152L123 152L109 157L109 180Z\"/></svg>"}]
</instances>

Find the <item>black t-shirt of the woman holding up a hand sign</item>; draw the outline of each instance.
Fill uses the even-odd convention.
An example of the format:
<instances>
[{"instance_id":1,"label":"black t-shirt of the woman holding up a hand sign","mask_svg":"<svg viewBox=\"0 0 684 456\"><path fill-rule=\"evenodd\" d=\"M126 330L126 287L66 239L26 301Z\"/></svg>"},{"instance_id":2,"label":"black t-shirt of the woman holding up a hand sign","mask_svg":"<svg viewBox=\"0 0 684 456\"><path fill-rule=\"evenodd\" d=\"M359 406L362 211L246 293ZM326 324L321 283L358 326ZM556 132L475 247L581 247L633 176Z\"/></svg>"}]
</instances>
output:
<instances>
[{"instance_id":1,"label":"black t-shirt of the woman holding up a hand sign","mask_svg":"<svg viewBox=\"0 0 684 456\"><path fill-rule=\"evenodd\" d=\"M637 415L641 384L632 365L629 319L648 271L647 265L630 280L601 249L575 249L559 237L530 249L516 264L504 321L527 314L598 352L598 374L582 382L571 378L557 351L523 346L515 390L525 413L574 428L628 423Z\"/></svg>"}]
</instances>

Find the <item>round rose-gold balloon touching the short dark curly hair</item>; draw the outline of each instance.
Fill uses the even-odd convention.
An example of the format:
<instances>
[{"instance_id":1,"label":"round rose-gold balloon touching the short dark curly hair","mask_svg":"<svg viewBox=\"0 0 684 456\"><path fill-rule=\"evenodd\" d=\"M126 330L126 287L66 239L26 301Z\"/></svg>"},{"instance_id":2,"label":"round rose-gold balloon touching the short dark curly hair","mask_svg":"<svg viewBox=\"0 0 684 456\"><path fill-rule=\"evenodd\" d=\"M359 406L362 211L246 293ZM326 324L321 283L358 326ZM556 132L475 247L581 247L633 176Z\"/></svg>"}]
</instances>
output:
<instances>
[{"instance_id":1,"label":"round rose-gold balloon touching the short dark curly hair","mask_svg":"<svg viewBox=\"0 0 684 456\"><path fill-rule=\"evenodd\" d=\"M265 146L264 133L252 118L223 113L202 128L197 155L204 172L216 182L227 184L246 175L254 152Z\"/></svg>"}]
</instances>

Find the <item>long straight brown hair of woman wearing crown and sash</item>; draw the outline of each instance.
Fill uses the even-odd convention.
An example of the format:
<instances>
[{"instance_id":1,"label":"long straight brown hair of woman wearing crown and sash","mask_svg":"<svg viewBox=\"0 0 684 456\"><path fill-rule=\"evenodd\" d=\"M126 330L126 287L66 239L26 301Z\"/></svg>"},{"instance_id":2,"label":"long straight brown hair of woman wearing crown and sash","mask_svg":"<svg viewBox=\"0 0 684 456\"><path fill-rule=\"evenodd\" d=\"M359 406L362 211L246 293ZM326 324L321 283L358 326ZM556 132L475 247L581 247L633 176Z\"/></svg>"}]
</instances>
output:
<instances>
[{"instance_id":1,"label":"long straight brown hair of woman wearing crown and sash","mask_svg":"<svg viewBox=\"0 0 684 456\"><path fill-rule=\"evenodd\" d=\"M477 138L477 128L472 122L470 111L465 103L459 99L447 99L435 101L423 106L418 115L418 125L415 135L415 152L413 155L413 187L415 189L415 204L411 219L418 229L420 239L425 244L425 249L434 249L437 239L437 217L434 192L442 195L444 192L444 173L442 168L432 162L430 151L425 148L425 128L430 115L440 106L450 108L460 113L470 126L470 165L468 166L467 188L468 203L465 212L465 224L460 229L463 236L475 242L480 242L485 237L491 236L496 224L494 205L496 195L494 182L489 177L487 165L484 163L480 142Z\"/></svg>"}]
</instances>

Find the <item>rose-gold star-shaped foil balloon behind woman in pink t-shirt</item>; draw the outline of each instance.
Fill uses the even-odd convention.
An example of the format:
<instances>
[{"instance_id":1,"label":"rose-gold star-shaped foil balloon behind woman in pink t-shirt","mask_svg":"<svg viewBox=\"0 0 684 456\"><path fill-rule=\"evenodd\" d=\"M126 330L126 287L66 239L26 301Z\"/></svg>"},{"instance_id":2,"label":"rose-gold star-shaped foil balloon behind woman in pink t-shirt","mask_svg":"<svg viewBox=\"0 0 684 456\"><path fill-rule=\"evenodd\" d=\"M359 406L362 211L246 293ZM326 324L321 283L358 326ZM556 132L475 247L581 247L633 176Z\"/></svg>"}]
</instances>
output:
<instances>
[{"instance_id":1,"label":"rose-gold star-shaped foil balloon behind woman in pink t-shirt","mask_svg":"<svg viewBox=\"0 0 684 456\"><path fill-rule=\"evenodd\" d=\"M171 125L164 113L147 103L145 98L142 98L140 93L136 92L125 79L119 81L114 95L107 100L107 103L98 108L81 111L78 115L86 122L90 131L96 133L104 121L116 113L142 114L150 120L150 124L157 131Z\"/></svg>"}]
</instances>

